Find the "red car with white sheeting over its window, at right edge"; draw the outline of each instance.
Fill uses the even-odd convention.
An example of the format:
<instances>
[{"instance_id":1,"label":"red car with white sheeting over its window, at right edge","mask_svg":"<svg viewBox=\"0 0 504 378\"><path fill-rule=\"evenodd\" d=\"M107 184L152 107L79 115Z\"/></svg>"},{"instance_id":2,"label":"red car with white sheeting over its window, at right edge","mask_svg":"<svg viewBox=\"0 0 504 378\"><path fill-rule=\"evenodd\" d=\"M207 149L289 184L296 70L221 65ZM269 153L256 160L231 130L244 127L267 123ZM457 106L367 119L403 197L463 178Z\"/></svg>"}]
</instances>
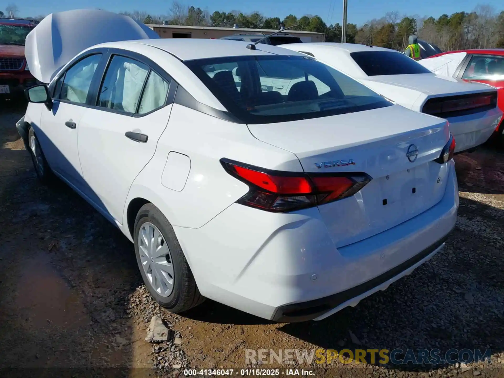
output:
<instances>
[{"instance_id":1,"label":"red car with white sheeting over its window, at right edge","mask_svg":"<svg viewBox=\"0 0 504 378\"><path fill-rule=\"evenodd\" d=\"M437 75L476 81L497 88L497 106L504 111L504 48L448 51L419 63ZM504 146L504 117L495 127L495 137Z\"/></svg>"}]
</instances>

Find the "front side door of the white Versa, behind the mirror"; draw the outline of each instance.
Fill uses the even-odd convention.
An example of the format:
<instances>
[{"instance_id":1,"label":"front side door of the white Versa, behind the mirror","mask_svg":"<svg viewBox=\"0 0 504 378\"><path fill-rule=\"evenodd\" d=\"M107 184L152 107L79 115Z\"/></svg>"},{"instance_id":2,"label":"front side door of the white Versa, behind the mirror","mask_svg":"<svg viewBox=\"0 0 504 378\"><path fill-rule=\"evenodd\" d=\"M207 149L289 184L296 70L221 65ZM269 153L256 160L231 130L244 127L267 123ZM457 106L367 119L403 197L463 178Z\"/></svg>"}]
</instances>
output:
<instances>
[{"instance_id":1,"label":"front side door of the white Versa, behind the mirror","mask_svg":"<svg viewBox=\"0 0 504 378\"><path fill-rule=\"evenodd\" d=\"M88 110L86 99L101 56L87 56L60 75L53 88L52 109L42 107L41 133L37 135L53 171L79 189L83 178L77 135L80 120Z\"/></svg>"}]
</instances>

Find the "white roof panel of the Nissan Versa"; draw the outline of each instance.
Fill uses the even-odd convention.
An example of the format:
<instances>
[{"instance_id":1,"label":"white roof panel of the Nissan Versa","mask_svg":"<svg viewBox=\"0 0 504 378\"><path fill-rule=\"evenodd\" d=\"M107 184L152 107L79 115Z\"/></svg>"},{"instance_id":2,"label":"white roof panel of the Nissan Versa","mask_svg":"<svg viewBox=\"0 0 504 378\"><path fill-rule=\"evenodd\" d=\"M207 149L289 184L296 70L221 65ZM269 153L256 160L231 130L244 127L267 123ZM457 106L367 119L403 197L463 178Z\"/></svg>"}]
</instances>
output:
<instances>
[{"instance_id":1,"label":"white roof panel of the Nissan Versa","mask_svg":"<svg viewBox=\"0 0 504 378\"><path fill-rule=\"evenodd\" d=\"M116 47L134 49L135 44L156 47L176 56L180 60L194 60L225 56L250 56L250 55L300 55L296 51L281 49L266 44L257 45L255 50L248 49L249 42L233 41L226 39L185 39L185 38L159 38L140 39L134 41L107 42L93 47Z\"/></svg>"}]
</instances>

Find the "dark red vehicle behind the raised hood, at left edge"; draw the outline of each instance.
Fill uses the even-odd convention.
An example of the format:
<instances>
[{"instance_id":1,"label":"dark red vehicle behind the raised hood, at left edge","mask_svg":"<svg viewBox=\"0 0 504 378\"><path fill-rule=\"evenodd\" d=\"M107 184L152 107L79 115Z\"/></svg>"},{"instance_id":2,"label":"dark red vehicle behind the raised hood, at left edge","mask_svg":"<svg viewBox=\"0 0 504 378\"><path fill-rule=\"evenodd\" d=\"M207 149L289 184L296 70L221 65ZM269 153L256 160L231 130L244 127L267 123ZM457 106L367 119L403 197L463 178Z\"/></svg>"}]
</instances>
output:
<instances>
[{"instance_id":1,"label":"dark red vehicle behind the raised hood, at left edge","mask_svg":"<svg viewBox=\"0 0 504 378\"><path fill-rule=\"evenodd\" d=\"M0 96L23 95L26 88L37 84L25 59L25 39L37 22L0 18Z\"/></svg>"}]
</instances>

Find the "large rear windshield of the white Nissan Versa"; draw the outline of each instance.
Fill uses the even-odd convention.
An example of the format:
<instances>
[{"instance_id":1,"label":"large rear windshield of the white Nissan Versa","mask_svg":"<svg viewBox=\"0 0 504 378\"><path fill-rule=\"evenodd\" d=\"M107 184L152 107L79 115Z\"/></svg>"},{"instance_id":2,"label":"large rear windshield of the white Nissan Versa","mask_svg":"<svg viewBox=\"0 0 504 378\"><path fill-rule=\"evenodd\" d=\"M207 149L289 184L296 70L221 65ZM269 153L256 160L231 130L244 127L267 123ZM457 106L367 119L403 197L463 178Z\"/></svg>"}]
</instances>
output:
<instances>
[{"instance_id":1,"label":"large rear windshield of the white Nissan Versa","mask_svg":"<svg viewBox=\"0 0 504 378\"><path fill-rule=\"evenodd\" d=\"M245 123L317 118L392 105L307 56L231 56L185 64Z\"/></svg>"}]
</instances>

